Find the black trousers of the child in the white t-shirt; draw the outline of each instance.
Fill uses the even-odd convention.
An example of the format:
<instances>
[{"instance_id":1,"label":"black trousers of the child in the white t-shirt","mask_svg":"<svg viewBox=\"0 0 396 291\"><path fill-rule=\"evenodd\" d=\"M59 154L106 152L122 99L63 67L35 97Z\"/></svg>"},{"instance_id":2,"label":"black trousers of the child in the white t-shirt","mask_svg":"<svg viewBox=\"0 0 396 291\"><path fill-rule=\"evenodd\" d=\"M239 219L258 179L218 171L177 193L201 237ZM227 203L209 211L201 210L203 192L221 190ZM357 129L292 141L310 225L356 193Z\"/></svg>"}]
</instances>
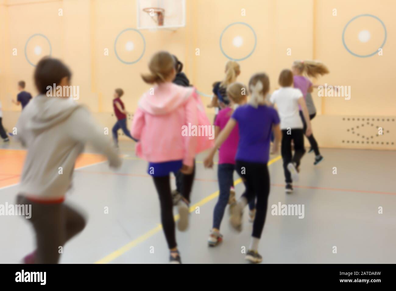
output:
<instances>
[{"instance_id":1,"label":"black trousers of the child in the white t-shirt","mask_svg":"<svg viewBox=\"0 0 396 291\"><path fill-rule=\"evenodd\" d=\"M288 131L290 134L287 134ZM291 141L293 141L294 144L294 155L291 153ZM303 129L282 129L281 153L283 159L283 170L285 172L285 181L286 183L291 183L291 175L287 169L287 165L290 162L294 162L297 167L300 165L300 160L305 153Z\"/></svg>"}]
</instances>

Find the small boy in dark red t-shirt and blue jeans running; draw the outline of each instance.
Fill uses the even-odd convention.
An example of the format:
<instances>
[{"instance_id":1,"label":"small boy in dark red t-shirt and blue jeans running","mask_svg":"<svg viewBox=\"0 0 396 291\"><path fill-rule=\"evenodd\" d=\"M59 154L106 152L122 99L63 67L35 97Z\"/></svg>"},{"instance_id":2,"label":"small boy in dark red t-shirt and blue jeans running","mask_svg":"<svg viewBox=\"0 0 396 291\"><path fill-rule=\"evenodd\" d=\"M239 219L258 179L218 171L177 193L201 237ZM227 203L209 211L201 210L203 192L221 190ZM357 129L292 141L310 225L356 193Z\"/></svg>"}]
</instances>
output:
<instances>
[{"instance_id":1,"label":"small boy in dark red t-shirt and blue jeans running","mask_svg":"<svg viewBox=\"0 0 396 291\"><path fill-rule=\"evenodd\" d=\"M122 95L124 95L124 90L122 90L121 88L114 90L113 108L114 108L114 114L117 118L117 122L113 126L112 133L113 133L114 144L116 145L117 148L118 148L118 129L120 128L127 137L133 139L134 141L137 141L131 136L131 133L126 127L126 116L128 112L125 110L124 103L121 101Z\"/></svg>"}]
</instances>

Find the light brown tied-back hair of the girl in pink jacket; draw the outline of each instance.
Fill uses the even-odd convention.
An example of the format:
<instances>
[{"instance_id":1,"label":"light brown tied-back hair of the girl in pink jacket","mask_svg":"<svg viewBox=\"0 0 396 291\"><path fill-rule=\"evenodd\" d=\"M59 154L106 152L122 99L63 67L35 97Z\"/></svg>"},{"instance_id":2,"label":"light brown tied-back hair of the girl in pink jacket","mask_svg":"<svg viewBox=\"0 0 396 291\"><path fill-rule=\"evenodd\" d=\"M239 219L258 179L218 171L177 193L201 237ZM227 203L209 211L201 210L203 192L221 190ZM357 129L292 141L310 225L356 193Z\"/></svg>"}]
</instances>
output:
<instances>
[{"instance_id":1,"label":"light brown tied-back hair of the girl in pink jacket","mask_svg":"<svg viewBox=\"0 0 396 291\"><path fill-rule=\"evenodd\" d=\"M148 84L163 83L175 68L175 59L167 51L154 54L148 63L150 74L141 74Z\"/></svg>"}]
</instances>

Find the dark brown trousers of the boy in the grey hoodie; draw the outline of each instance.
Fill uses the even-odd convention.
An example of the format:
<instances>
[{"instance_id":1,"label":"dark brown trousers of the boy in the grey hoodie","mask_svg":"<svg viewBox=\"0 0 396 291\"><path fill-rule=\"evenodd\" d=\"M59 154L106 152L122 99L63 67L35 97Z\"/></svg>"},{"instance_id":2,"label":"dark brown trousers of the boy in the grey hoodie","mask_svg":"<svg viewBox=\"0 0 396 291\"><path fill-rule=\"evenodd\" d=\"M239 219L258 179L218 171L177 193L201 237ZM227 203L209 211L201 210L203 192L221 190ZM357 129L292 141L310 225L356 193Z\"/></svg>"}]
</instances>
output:
<instances>
[{"instance_id":1,"label":"dark brown trousers of the boy in the grey hoodie","mask_svg":"<svg viewBox=\"0 0 396 291\"><path fill-rule=\"evenodd\" d=\"M85 218L65 203L40 204L18 195L17 204L32 205L29 222L36 233L35 264L57 264L59 247L64 247L86 225Z\"/></svg>"}]
</instances>

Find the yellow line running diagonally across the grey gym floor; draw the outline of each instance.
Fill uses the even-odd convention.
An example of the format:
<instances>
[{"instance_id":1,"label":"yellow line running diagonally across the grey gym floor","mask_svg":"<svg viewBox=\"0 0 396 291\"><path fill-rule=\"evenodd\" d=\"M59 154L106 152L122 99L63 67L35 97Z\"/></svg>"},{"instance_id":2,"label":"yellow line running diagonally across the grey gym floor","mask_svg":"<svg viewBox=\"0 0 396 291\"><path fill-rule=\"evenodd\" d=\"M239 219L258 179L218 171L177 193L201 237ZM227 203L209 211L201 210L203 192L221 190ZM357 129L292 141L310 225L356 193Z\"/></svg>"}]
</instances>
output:
<instances>
[{"instance_id":1,"label":"yellow line running diagonally across the grey gym floor","mask_svg":"<svg viewBox=\"0 0 396 291\"><path fill-rule=\"evenodd\" d=\"M274 164L275 162L277 162L278 160L280 160L282 157L281 156L277 156L276 158L273 158L272 160L270 160L268 162L268 165ZM238 185L239 183L242 182L242 179L236 179L234 181L234 186ZM190 206L190 213L195 211L196 207L200 207L206 203L208 203L209 201L213 200L214 198L216 198L217 196L219 196L219 190L217 190L216 192L213 192L212 194L210 194L209 196L206 196L204 199L202 199L200 202L191 205ZM177 221L179 219L179 215L175 215L174 216L175 221ZM104 257L103 259L100 259L99 261L96 261L95 264L107 264L111 261L113 261L114 259L120 257L121 255L123 255L124 253L126 253L127 251L129 251L131 248L135 247L136 245L138 245L139 243L144 242L145 240L147 240L148 238L154 236L154 234L156 234L157 232L159 232L160 230L162 230L162 224L158 224L156 227L152 228L151 230L149 230L148 232L146 232L145 234L143 234L142 236L139 236L138 238L136 238L135 240L127 243L126 245L120 247L119 249L117 249L116 251L110 253L109 255L107 255L106 257Z\"/></svg>"}]
</instances>

